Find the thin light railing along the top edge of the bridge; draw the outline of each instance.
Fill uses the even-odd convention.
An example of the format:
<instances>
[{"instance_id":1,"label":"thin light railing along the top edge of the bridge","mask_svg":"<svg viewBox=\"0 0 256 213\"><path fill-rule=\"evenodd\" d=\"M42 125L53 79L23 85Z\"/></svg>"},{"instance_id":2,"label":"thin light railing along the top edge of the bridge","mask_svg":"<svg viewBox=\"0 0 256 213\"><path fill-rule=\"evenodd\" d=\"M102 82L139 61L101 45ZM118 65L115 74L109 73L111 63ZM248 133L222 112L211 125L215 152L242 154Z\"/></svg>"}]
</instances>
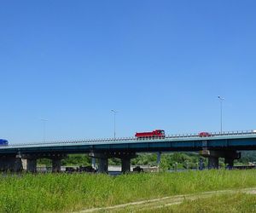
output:
<instances>
[{"instance_id":1,"label":"thin light railing along the top edge of the bridge","mask_svg":"<svg viewBox=\"0 0 256 213\"><path fill-rule=\"evenodd\" d=\"M256 135L256 130L241 130L241 131L223 131L223 132L209 132L207 137L214 136L226 136L226 135ZM36 143L20 143L9 145L6 147L24 147L24 146L38 146L38 145L55 145L55 144L76 144L76 143L93 143L93 142L115 142L115 141L148 141L148 140L160 140L164 138L175 139L175 138L192 138L192 137L200 137L198 133L190 133L190 134L173 134L166 135L165 137L143 137L138 139L137 137L118 137L118 138L102 138L102 139L87 139L87 140L74 140L74 141L45 141L45 142L36 142ZM206 137L203 137L206 138ZM4 147L1 147L4 148Z\"/></svg>"}]
</instances>

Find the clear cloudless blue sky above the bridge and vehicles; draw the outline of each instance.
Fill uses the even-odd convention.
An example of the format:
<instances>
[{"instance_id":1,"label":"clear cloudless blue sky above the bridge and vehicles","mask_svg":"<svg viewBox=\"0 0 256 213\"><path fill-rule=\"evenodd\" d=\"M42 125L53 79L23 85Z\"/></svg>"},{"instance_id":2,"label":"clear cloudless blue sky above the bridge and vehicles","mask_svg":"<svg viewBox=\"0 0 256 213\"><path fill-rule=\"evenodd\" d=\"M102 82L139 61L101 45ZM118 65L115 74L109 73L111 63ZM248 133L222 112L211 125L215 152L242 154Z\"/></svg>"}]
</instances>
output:
<instances>
[{"instance_id":1,"label":"clear cloudless blue sky above the bridge and vehicles","mask_svg":"<svg viewBox=\"0 0 256 213\"><path fill-rule=\"evenodd\" d=\"M256 129L256 2L1 1L10 143Z\"/></svg>"}]
</instances>

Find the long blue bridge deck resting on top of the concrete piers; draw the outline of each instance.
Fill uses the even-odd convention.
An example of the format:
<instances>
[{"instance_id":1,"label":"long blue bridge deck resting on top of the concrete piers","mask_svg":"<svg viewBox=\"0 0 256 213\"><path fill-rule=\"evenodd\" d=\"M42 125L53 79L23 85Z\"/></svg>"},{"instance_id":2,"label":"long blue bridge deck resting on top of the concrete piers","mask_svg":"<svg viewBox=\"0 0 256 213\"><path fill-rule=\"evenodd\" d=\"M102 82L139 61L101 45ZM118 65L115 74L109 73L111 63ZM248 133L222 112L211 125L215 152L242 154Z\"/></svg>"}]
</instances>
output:
<instances>
[{"instance_id":1,"label":"long blue bridge deck resting on top of the concrete piers","mask_svg":"<svg viewBox=\"0 0 256 213\"><path fill-rule=\"evenodd\" d=\"M15 144L0 147L2 154L15 153L90 153L98 152L156 152L199 151L212 149L253 150L256 149L256 132L236 132L198 135L168 135L164 139L118 138L81 141L54 141L45 143Z\"/></svg>"}]
</instances>

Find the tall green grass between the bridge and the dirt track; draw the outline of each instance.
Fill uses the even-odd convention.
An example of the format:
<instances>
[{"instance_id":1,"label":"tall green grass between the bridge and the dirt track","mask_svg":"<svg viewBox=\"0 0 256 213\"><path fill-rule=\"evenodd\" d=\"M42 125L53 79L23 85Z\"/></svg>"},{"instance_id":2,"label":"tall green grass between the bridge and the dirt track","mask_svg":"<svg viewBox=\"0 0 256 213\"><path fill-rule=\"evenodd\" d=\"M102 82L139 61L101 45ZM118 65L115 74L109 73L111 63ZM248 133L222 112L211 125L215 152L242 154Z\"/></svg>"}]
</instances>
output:
<instances>
[{"instance_id":1,"label":"tall green grass between the bridge and the dirt track","mask_svg":"<svg viewBox=\"0 0 256 213\"><path fill-rule=\"evenodd\" d=\"M256 187L255 177L256 170L206 170L117 177L85 174L2 176L0 212L72 211L177 194Z\"/></svg>"}]
</instances>

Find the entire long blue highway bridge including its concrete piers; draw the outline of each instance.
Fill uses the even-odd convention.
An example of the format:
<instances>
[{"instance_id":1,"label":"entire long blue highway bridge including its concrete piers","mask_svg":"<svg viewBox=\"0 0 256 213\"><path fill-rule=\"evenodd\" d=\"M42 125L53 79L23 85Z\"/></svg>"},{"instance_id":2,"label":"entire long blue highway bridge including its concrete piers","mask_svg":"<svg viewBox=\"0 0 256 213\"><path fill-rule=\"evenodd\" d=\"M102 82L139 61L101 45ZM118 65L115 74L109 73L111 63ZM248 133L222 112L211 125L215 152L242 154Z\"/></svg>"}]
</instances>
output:
<instances>
[{"instance_id":1,"label":"entire long blue highway bridge including its concrete piers","mask_svg":"<svg viewBox=\"0 0 256 213\"><path fill-rule=\"evenodd\" d=\"M208 158L208 167L218 168L218 158L224 158L230 167L234 159L241 157L241 150L256 150L256 132L236 131L198 134L166 135L165 138L135 137L109 138L82 141L53 141L44 143L16 144L0 147L0 170L22 170L21 159L26 159L27 170L36 172L37 159L50 158L53 172L61 170L61 159L71 153L88 153L98 158L99 172L108 172L108 158L120 158L122 171L129 171L131 158L137 153L199 152Z\"/></svg>"}]
</instances>

